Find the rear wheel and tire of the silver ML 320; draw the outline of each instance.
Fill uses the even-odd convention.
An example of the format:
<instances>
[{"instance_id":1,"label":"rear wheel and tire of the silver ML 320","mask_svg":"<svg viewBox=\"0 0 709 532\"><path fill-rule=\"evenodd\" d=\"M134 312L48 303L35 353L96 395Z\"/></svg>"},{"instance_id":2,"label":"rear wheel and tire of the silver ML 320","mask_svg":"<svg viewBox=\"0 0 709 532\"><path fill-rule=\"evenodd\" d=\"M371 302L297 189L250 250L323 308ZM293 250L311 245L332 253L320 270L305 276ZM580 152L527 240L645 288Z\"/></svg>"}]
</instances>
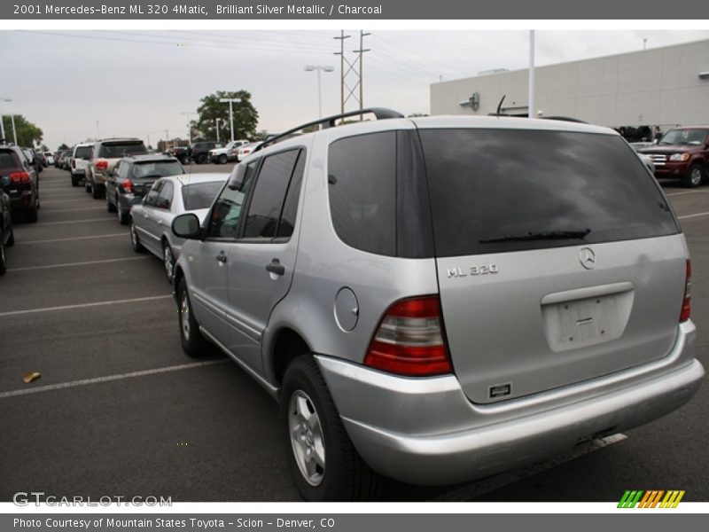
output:
<instances>
[{"instance_id":1,"label":"rear wheel and tire of the silver ML 320","mask_svg":"<svg viewBox=\"0 0 709 532\"><path fill-rule=\"evenodd\" d=\"M293 360L285 372L281 423L288 466L304 499L366 501L378 497L382 479L354 449L310 355Z\"/></svg>"}]
</instances>

